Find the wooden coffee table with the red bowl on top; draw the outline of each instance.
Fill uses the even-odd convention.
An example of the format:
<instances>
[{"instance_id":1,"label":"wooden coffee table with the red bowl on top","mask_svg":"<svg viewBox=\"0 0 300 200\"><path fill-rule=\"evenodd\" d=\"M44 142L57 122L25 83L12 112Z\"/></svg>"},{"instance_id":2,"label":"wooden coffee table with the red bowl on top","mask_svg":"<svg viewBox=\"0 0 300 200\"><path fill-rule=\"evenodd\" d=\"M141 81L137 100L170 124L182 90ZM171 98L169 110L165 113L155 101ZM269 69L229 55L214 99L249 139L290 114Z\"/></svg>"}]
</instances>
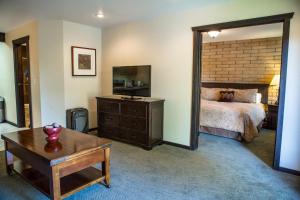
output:
<instances>
[{"instance_id":1,"label":"wooden coffee table with the red bowl on top","mask_svg":"<svg viewBox=\"0 0 300 200\"><path fill-rule=\"evenodd\" d=\"M53 200L102 181L110 186L110 140L70 129L57 143L45 137L42 128L2 135L7 173L16 172ZM102 170L93 167L97 163Z\"/></svg>"}]
</instances>

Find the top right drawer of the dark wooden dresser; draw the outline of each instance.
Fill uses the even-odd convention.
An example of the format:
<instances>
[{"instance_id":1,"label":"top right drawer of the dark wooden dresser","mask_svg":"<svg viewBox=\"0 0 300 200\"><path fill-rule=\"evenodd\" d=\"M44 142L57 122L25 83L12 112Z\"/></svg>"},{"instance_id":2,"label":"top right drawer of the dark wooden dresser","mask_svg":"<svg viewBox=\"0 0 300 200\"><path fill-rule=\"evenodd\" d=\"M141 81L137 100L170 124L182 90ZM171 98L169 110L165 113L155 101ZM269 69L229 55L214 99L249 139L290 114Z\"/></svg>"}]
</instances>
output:
<instances>
[{"instance_id":1,"label":"top right drawer of the dark wooden dresser","mask_svg":"<svg viewBox=\"0 0 300 200\"><path fill-rule=\"evenodd\" d=\"M146 117L147 105L144 103L121 103L121 114Z\"/></svg>"}]
</instances>

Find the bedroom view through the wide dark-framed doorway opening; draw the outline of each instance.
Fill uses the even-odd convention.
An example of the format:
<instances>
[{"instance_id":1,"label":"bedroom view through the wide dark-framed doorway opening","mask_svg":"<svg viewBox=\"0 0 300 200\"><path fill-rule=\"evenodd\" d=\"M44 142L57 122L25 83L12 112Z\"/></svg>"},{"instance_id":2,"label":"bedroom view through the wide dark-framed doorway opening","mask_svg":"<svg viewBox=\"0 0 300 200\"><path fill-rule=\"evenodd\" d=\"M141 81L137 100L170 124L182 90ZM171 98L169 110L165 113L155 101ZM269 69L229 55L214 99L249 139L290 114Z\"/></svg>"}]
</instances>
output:
<instances>
[{"instance_id":1,"label":"bedroom view through the wide dark-framed doorway opening","mask_svg":"<svg viewBox=\"0 0 300 200\"><path fill-rule=\"evenodd\" d=\"M199 140L229 138L273 166L281 49L282 23L203 33Z\"/></svg>"}]
</instances>

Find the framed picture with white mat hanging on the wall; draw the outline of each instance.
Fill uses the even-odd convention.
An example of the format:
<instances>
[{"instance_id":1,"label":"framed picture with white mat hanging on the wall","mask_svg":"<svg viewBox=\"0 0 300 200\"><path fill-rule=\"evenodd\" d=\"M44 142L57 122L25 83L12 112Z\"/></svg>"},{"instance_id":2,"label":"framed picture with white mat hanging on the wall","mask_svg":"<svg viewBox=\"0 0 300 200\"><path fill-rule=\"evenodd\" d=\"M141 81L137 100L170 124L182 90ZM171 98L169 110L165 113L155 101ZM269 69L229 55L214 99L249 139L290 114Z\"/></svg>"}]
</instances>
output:
<instances>
[{"instance_id":1,"label":"framed picture with white mat hanging on the wall","mask_svg":"<svg viewBox=\"0 0 300 200\"><path fill-rule=\"evenodd\" d=\"M96 49L71 47L72 76L96 76Z\"/></svg>"}]
</instances>

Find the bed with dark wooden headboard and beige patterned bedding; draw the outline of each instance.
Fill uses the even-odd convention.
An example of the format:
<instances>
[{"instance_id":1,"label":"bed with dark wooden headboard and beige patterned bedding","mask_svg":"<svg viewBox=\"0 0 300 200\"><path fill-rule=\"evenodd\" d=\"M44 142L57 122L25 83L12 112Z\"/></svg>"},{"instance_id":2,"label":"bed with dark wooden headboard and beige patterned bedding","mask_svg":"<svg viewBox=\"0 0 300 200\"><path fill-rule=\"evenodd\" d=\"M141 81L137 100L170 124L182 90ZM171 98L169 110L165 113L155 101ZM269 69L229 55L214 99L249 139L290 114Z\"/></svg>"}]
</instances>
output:
<instances>
[{"instance_id":1,"label":"bed with dark wooden headboard and beige patterned bedding","mask_svg":"<svg viewBox=\"0 0 300 200\"><path fill-rule=\"evenodd\" d=\"M251 142L259 136L268 102L268 84L202 83L204 88L257 89L260 103L219 102L201 98L200 132Z\"/></svg>"}]
</instances>

